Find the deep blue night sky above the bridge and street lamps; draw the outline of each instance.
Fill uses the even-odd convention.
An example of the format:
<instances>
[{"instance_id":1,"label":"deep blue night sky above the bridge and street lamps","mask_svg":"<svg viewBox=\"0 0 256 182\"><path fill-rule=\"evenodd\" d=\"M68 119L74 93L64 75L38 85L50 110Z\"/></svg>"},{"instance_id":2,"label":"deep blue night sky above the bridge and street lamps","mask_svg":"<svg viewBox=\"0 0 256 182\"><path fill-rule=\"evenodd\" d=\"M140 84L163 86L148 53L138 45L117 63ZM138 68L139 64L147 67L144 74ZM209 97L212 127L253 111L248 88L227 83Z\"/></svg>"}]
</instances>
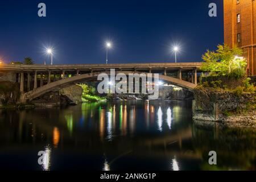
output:
<instances>
[{"instance_id":1,"label":"deep blue night sky above the bridge and street lamps","mask_svg":"<svg viewBox=\"0 0 256 182\"><path fill-rule=\"evenodd\" d=\"M47 17L38 17L38 3ZM208 5L217 4L217 18ZM42 64L54 48L54 64L105 63L105 41L112 40L109 63L200 61L206 49L224 42L223 1L41 0L0 2L0 58L6 63L30 56Z\"/></svg>"}]
</instances>

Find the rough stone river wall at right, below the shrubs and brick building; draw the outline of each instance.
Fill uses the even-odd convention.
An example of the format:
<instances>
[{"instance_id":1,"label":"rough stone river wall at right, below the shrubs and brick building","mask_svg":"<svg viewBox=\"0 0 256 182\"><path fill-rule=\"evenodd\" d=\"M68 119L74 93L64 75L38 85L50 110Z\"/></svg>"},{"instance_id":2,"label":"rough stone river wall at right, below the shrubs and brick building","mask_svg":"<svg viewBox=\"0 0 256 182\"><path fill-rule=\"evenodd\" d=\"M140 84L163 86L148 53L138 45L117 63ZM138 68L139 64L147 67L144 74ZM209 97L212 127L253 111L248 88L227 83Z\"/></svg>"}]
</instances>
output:
<instances>
[{"instance_id":1,"label":"rough stone river wall at right, below the shrubs and brick building","mask_svg":"<svg viewBox=\"0 0 256 182\"><path fill-rule=\"evenodd\" d=\"M256 93L196 88L193 119L221 122L256 122Z\"/></svg>"}]
</instances>

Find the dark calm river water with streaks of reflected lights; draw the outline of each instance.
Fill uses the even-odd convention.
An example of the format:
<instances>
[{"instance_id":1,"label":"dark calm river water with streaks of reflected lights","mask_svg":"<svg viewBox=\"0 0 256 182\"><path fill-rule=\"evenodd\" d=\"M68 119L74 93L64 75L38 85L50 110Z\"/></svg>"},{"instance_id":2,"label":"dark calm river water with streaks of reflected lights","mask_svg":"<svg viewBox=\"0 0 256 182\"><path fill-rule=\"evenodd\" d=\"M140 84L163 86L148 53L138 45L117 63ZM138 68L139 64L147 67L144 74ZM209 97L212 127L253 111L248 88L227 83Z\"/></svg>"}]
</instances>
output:
<instances>
[{"instance_id":1,"label":"dark calm river water with streaks of reflected lights","mask_svg":"<svg viewBox=\"0 0 256 182\"><path fill-rule=\"evenodd\" d=\"M255 169L255 130L198 125L191 108L191 101L117 101L1 110L0 169ZM209 151L217 165L209 165Z\"/></svg>"}]
</instances>

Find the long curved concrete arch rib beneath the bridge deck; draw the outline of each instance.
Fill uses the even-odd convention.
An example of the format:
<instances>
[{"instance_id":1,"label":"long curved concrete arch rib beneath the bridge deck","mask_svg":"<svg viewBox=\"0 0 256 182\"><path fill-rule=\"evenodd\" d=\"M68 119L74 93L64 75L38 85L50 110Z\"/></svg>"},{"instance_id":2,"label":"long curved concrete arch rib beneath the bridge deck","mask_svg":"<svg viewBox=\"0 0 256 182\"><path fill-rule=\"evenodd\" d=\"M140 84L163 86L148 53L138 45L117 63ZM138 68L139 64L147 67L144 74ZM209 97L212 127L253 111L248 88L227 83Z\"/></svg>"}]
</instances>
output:
<instances>
[{"instance_id":1,"label":"long curved concrete arch rib beneath the bridge deck","mask_svg":"<svg viewBox=\"0 0 256 182\"><path fill-rule=\"evenodd\" d=\"M30 92L23 93L22 97L21 97L21 101L26 102L26 101L34 100L35 98L40 97L47 92L65 88L65 87L72 85L76 82L93 80L93 79L97 78L98 75L100 75L101 73L106 73L107 75L110 76L110 72L93 72L93 73L87 73L87 74L83 74L83 75L76 75L76 76L69 77L69 78L64 78L64 79L61 79L61 80L58 80L55 82L51 82L47 85L41 86L39 88L36 88L34 90L31 90ZM144 73L147 76L150 76L150 75L148 75L149 73L146 73L146 72L119 71L119 72L115 72L115 75L117 75L118 73L124 73L125 75L129 75L130 73L131 74ZM152 74L152 75L154 75L154 74ZM188 89L191 92L193 92L193 89L197 86L196 84L193 84L191 82L180 80L180 79L174 78L174 77L164 76L164 75L159 75L159 80L170 82L171 84L180 86L181 88Z\"/></svg>"}]
</instances>

